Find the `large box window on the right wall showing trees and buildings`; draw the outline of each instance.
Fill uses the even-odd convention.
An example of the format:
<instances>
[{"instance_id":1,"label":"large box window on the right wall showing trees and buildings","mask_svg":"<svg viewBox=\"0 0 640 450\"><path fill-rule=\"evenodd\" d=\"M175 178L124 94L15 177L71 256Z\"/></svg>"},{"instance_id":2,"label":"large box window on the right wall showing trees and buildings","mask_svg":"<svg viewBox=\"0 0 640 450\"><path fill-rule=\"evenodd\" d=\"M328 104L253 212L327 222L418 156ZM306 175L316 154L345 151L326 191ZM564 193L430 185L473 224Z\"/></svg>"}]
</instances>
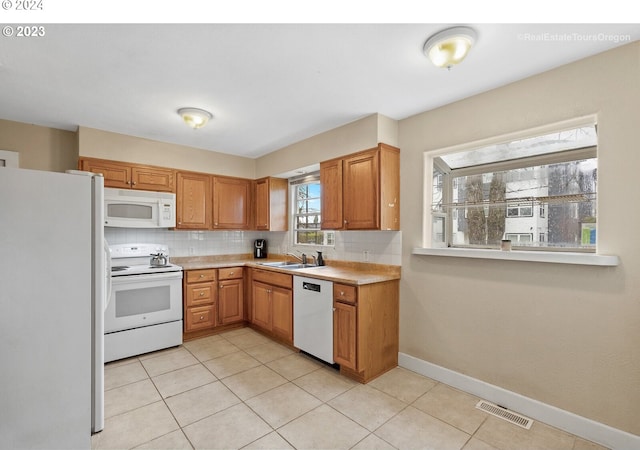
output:
<instances>
[{"instance_id":1,"label":"large box window on the right wall showing trees and buildings","mask_svg":"<svg viewBox=\"0 0 640 450\"><path fill-rule=\"evenodd\" d=\"M432 159L431 245L595 251L594 123Z\"/></svg>"}]
</instances>

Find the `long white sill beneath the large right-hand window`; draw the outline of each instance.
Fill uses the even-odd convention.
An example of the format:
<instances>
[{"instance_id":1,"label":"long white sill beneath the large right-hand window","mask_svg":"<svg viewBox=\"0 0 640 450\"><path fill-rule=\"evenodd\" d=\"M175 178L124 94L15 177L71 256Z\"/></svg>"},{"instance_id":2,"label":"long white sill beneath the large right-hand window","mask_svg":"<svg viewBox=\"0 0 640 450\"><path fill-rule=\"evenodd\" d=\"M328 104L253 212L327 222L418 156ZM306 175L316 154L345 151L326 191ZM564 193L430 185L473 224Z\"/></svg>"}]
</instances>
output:
<instances>
[{"instance_id":1,"label":"long white sill beneath the large right-hand window","mask_svg":"<svg viewBox=\"0 0 640 450\"><path fill-rule=\"evenodd\" d=\"M499 259L504 261L531 261L558 264L580 264L612 267L620 264L617 256L593 253L544 252L512 250L509 252L476 248L422 248L416 247L414 255L454 256L459 258Z\"/></svg>"}]
</instances>

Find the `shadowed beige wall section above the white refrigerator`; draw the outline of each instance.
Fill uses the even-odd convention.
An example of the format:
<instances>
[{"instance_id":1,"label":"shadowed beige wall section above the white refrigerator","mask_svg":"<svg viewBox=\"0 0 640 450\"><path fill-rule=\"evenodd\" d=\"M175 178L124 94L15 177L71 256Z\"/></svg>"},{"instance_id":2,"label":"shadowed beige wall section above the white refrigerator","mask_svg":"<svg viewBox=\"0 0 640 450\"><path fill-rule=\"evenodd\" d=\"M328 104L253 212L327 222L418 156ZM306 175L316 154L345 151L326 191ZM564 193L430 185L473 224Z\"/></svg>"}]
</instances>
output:
<instances>
[{"instance_id":1,"label":"shadowed beige wall section above the white refrigerator","mask_svg":"<svg viewBox=\"0 0 640 450\"><path fill-rule=\"evenodd\" d=\"M0 119L0 150L20 154L23 169L64 172L76 169L76 133Z\"/></svg>"}]
</instances>

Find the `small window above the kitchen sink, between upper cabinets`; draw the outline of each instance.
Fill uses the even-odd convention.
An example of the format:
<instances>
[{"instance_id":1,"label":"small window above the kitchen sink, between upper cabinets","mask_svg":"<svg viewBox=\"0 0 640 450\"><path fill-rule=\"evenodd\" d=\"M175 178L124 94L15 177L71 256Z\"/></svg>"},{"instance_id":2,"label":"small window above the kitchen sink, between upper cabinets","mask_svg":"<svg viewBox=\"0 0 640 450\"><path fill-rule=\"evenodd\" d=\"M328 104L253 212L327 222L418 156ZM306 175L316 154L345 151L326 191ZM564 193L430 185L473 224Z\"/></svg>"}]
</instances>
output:
<instances>
[{"instance_id":1,"label":"small window above the kitchen sink, between upper cabinets","mask_svg":"<svg viewBox=\"0 0 640 450\"><path fill-rule=\"evenodd\" d=\"M322 222L318 174L290 181L293 192L294 245L334 245L335 232L320 229Z\"/></svg>"}]
</instances>

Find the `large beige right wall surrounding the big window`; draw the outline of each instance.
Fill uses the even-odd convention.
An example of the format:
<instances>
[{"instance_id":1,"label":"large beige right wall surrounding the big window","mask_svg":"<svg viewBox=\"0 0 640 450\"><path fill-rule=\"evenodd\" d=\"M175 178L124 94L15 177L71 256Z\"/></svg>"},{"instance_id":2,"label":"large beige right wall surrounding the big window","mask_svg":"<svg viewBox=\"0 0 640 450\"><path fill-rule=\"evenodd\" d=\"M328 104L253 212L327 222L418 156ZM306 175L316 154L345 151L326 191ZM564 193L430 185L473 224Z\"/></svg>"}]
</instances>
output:
<instances>
[{"instance_id":1,"label":"large beige right wall surrounding the big window","mask_svg":"<svg viewBox=\"0 0 640 450\"><path fill-rule=\"evenodd\" d=\"M401 352L640 435L639 108L634 43L400 122ZM589 114L599 251L620 266L412 255L425 151Z\"/></svg>"}]
</instances>

